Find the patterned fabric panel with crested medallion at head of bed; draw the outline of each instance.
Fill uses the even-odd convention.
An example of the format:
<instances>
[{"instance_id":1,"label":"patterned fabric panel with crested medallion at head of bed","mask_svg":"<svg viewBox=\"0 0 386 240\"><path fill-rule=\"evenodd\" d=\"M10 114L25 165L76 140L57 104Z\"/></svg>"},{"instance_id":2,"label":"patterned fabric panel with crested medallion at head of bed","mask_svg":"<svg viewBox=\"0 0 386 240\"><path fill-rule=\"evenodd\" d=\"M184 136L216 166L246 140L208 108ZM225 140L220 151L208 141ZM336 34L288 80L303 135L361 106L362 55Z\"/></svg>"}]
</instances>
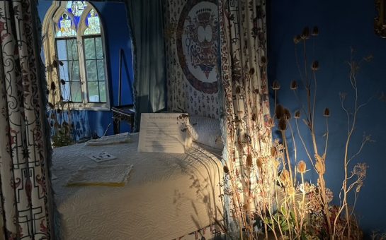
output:
<instances>
[{"instance_id":1,"label":"patterned fabric panel with crested medallion at head of bed","mask_svg":"<svg viewBox=\"0 0 386 240\"><path fill-rule=\"evenodd\" d=\"M169 111L220 118L220 42L216 2L165 1Z\"/></svg>"}]
</instances>

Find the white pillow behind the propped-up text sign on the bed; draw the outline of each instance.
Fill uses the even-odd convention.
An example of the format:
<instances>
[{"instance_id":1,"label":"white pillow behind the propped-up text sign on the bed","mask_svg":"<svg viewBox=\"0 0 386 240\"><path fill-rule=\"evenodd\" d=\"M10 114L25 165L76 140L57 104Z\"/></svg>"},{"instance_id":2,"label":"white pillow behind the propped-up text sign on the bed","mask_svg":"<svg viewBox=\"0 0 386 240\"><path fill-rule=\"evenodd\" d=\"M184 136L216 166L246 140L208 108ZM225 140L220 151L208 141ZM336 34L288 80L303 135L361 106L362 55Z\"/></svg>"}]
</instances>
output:
<instances>
[{"instance_id":1,"label":"white pillow behind the propped-up text sign on the bed","mask_svg":"<svg viewBox=\"0 0 386 240\"><path fill-rule=\"evenodd\" d=\"M224 148L219 120L206 116L190 116L189 123L191 136L195 142L220 150Z\"/></svg>"}]
</instances>

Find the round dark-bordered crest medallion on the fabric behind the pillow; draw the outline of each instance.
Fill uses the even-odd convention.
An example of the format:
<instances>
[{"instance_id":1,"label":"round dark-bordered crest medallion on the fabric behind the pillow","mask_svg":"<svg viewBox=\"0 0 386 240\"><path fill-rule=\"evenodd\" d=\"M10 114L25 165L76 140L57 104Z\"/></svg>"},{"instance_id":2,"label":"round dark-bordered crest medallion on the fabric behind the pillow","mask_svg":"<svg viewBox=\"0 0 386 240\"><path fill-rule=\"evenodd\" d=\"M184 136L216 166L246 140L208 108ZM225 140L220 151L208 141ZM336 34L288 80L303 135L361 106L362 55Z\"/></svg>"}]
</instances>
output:
<instances>
[{"instance_id":1,"label":"round dark-bordered crest medallion on the fabric behind the pillow","mask_svg":"<svg viewBox=\"0 0 386 240\"><path fill-rule=\"evenodd\" d=\"M218 91L218 9L215 0L188 1L176 31L178 61L193 88Z\"/></svg>"}]
</instances>

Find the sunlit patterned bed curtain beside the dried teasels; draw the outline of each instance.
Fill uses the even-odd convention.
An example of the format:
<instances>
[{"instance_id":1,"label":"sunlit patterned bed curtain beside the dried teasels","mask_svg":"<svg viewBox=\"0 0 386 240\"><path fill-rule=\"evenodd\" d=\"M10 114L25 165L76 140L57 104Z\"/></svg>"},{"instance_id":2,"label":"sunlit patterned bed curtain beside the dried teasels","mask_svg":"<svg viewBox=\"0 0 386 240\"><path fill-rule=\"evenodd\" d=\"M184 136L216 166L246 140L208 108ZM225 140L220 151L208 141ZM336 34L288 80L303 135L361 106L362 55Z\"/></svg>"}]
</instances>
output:
<instances>
[{"instance_id":1,"label":"sunlit patterned bed curtain beside the dried teasels","mask_svg":"<svg viewBox=\"0 0 386 240\"><path fill-rule=\"evenodd\" d=\"M237 181L244 210L253 211L261 201L261 184L270 177L261 170L268 164L264 157L271 154L266 2L219 0L219 20L225 160Z\"/></svg>"}]
</instances>

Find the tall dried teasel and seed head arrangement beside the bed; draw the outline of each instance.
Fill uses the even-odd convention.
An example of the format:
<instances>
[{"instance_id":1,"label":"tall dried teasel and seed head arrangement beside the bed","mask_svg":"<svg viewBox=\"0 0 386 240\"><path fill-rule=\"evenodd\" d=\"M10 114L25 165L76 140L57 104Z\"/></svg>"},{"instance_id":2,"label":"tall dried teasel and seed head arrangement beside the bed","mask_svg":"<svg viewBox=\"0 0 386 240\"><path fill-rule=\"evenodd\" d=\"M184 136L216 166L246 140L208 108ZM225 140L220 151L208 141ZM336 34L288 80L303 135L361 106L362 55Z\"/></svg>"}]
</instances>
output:
<instances>
[{"instance_id":1,"label":"tall dried teasel and seed head arrangement beside the bed","mask_svg":"<svg viewBox=\"0 0 386 240\"><path fill-rule=\"evenodd\" d=\"M281 133L281 141L274 140L271 150L251 150L242 156L244 161L242 177L247 183L246 186L245 184L240 186L239 176L235 176L232 166L228 164L224 167L224 196L229 199L232 220L238 224L236 233L229 224L223 226L224 231L230 234L232 239L258 239L261 235L266 239L268 236L273 239L361 239L363 236L354 208L358 193L363 186L367 165L352 164L352 161L360 154L366 143L371 141L371 138L367 135L363 136L359 149L353 155L350 155L352 151L350 145L358 122L358 113L367 104L367 102L359 103L357 73L362 61L370 61L371 56L356 61L352 50L351 59L348 61L354 106L350 112L345 102L348 95L340 94L341 108L347 116L348 130L342 159L344 180L339 193L340 204L333 205L331 202L333 193L327 188L325 181L331 112L328 108L322 112L326 133L319 139L315 130L321 126L315 122L319 62L312 61L311 64L307 62L306 43L318 35L317 27L312 31L310 28L304 28L302 34L296 35L293 39L296 64L301 79L300 83L296 80L290 83L290 90L293 90L300 106L293 116L287 108L277 104L280 83L275 80L271 85L275 95L275 111L268 121L271 124L268 125L271 129L276 125ZM297 54L299 49L302 49L302 59ZM304 65L301 67L300 63ZM304 92L299 90L300 84L304 87ZM236 125L237 121L235 120ZM303 122L306 128L302 128L299 122ZM304 129L306 129L305 132ZM305 138L305 134L309 134L310 143L306 142L308 138ZM296 146L295 137L302 143L300 148ZM233 142L236 145L234 148L245 143L241 138L242 136L237 136L234 139ZM288 139L292 140L293 154L292 151L290 154ZM261 139L261 141L268 143L271 139ZM300 150L307 156L307 163L298 159L297 153ZM251 167L253 162L256 162L257 169ZM259 176L252 192L251 171L257 171ZM314 171L317 174L317 184L305 181L305 174L308 171ZM239 191L240 189L243 191ZM351 193L354 196L353 204L349 203L348 198ZM250 208L249 204L256 200L258 201L256 208Z\"/></svg>"}]
</instances>

